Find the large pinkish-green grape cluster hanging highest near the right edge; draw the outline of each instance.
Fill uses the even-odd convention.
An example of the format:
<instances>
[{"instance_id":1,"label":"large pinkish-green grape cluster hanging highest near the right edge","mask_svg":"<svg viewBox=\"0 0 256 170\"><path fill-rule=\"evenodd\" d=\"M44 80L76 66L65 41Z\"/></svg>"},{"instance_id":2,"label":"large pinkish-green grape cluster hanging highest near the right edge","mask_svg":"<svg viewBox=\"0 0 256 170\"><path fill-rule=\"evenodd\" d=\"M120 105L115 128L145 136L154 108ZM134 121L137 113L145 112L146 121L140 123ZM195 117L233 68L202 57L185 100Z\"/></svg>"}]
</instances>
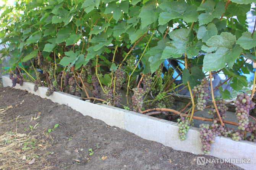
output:
<instances>
[{"instance_id":1,"label":"large pinkish-green grape cluster hanging highest near the right edge","mask_svg":"<svg viewBox=\"0 0 256 170\"><path fill-rule=\"evenodd\" d=\"M236 106L238 129L245 130L249 124L249 112L254 109L255 103L251 101L251 97L247 93L237 95L234 105Z\"/></svg>"}]
</instances>

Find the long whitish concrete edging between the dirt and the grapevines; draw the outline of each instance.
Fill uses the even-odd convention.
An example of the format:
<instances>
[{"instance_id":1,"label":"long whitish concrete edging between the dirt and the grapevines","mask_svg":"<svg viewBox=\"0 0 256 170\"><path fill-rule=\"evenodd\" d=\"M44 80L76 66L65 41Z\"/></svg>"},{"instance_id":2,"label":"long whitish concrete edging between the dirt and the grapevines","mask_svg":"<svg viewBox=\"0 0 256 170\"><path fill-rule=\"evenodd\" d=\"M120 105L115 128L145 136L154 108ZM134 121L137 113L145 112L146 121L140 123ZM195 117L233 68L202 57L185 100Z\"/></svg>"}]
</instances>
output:
<instances>
[{"instance_id":1,"label":"long whitish concrete edging between the dirt and the grapevines","mask_svg":"<svg viewBox=\"0 0 256 170\"><path fill-rule=\"evenodd\" d=\"M3 87L12 86L9 77L3 76L2 80ZM45 95L47 91L46 87L39 87L35 92L34 84L29 82L24 82L23 86L17 84L15 88L27 90L42 98L50 99L55 103L66 104L72 109L81 112L83 115L102 120L110 126L122 128L146 140L157 141L165 146L180 151L203 154L201 151L202 144L199 138L199 128L191 127L187 133L187 139L180 141L178 138L179 127L175 122L127 111L106 104L89 103L81 100L77 96L60 91L53 92L51 96L47 97ZM223 136L216 137L209 155L220 159L240 159L240 161L250 158L250 164L234 164L248 170L254 170L256 167L256 143L250 141L236 142Z\"/></svg>"}]
</instances>

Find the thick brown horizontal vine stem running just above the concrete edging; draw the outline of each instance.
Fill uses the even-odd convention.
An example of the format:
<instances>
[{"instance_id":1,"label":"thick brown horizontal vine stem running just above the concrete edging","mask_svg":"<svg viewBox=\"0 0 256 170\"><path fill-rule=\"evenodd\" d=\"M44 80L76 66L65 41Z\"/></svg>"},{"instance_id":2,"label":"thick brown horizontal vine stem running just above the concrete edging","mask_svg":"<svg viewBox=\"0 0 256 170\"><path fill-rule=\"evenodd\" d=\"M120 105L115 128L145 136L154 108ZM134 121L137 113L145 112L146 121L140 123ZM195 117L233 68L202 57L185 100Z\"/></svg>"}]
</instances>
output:
<instances>
[{"instance_id":1,"label":"thick brown horizontal vine stem running just above the concrete edging","mask_svg":"<svg viewBox=\"0 0 256 170\"><path fill-rule=\"evenodd\" d=\"M141 112L142 114L145 114L145 113L149 113L151 111L165 111L165 112L172 112L174 114L177 114L177 115L180 115L180 116L184 116L184 117L191 117L191 115L188 115L188 114L183 114L181 112L178 112L176 110L173 110L173 109L166 109L166 108L154 108L154 109L147 109L146 111L143 111ZM213 122L214 119L211 119L211 118L206 118L206 117L200 117L200 116L193 116L193 119L197 119L197 120L202 120L202 121L206 121L206 122ZM217 120L217 122L220 122ZM227 121L227 120L224 120L225 123L227 124L230 124L230 125L235 125L237 126L237 123L236 122L231 122L231 121Z\"/></svg>"}]
</instances>

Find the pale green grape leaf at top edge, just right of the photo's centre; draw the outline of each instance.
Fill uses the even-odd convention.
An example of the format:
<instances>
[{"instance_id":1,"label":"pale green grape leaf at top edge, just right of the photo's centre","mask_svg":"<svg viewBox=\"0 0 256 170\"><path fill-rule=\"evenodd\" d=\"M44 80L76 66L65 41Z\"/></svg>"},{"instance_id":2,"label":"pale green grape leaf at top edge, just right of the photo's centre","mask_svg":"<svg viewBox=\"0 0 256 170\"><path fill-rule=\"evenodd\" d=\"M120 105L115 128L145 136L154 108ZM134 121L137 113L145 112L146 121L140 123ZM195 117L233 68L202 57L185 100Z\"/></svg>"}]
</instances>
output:
<instances>
[{"instance_id":1,"label":"pale green grape leaf at top edge, just right of the photo's centre","mask_svg":"<svg viewBox=\"0 0 256 170\"><path fill-rule=\"evenodd\" d=\"M141 27L144 28L155 21L156 13L156 2L154 0L149 0L141 8L139 17L141 18ZM165 24L165 23L164 23Z\"/></svg>"}]
</instances>

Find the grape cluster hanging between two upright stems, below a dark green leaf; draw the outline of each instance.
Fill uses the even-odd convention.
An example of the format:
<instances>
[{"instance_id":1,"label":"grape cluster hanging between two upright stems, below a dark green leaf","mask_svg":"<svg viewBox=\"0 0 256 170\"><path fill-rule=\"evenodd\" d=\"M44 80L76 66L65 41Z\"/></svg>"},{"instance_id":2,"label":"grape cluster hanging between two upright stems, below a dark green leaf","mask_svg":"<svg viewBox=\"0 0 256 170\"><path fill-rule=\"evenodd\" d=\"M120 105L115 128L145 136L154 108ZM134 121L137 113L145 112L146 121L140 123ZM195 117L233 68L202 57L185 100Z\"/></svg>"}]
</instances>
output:
<instances>
[{"instance_id":1,"label":"grape cluster hanging between two upright stems, below a dark green leaf","mask_svg":"<svg viewBox=\"0 0 256 170\"><path fill-rule=\"evenodd\" d=\"M206 78L202 80L200 85L194 86L192 90L195 94L198 94L196 96L196 100L197 100L196 106L197 106L197 109L202 112L206 107L208 99L210 98L210 90L208 89L210 86L210 83L205 81L206 81Z\"/></svg>"}]
</instances>

